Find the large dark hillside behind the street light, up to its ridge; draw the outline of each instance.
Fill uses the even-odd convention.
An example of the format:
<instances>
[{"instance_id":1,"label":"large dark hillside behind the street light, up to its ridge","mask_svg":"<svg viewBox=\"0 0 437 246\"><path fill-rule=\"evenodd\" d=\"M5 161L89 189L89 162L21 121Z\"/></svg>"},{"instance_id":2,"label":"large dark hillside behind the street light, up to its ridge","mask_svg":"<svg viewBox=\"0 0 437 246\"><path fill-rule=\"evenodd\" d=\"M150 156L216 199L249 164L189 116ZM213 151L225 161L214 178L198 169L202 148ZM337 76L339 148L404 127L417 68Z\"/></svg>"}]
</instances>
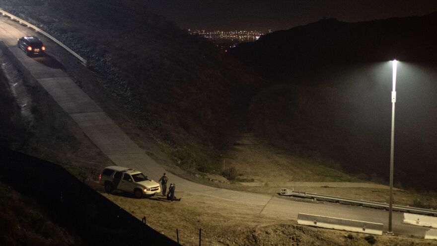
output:
<instances>
[{"instance_id":1,"label":"large dark hillside behind the street light, up to its ridge","mask_svg":"<svg viewBox=\"0 0 437 246\"><path fill-rule=\"evenodd\" d=\"M391 63L397 73L398 186L436 189L437 13L359 23L335 19L278 31L231 53L271 84L250 107L255 132L386 183Z\"/></svg>"}]
</instances>

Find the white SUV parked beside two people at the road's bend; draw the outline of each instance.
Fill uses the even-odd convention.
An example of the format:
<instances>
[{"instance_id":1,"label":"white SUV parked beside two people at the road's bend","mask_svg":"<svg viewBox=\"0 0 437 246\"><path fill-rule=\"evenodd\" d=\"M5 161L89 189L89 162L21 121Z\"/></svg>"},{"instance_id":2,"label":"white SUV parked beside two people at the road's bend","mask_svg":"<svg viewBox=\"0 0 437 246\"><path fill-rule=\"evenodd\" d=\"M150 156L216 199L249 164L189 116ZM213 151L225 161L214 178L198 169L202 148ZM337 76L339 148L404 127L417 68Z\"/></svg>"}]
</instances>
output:
<instances>
[{"instance_id":1,"label":"white SUV parked beside two people at the road's bend","mask_svg":"<svg viewBox=\"0 0 437 246\"><path fill-rule=\"evenodd\" d=\"M161 192L159 184L150 180L142 172L121 166L108 166L103 169L99 176L100 184L111 193L113 190L121 190L133 193L140 199L145 196L154 196Z\"/></svg>"}]
</instances>

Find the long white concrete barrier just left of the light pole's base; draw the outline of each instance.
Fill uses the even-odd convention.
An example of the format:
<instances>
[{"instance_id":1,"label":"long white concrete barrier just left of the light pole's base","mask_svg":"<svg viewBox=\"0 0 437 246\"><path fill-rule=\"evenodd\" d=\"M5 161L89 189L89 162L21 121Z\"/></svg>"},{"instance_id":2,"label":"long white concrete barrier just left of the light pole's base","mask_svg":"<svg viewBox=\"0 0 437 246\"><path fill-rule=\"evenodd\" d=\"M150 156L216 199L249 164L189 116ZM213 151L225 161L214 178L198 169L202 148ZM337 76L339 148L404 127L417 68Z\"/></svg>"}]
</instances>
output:
<instances>
[{"instance_id":1,"label":"long white concrete barrier just left of the light pole's base","mask_svg":"<svg viewBox=\"0 0 437 246\"><path fill-rule=\"evenodd\" d=\"M347 220L302 213L299 213L297 215L297 224L374 235L382 235L383 228L383 224L379 223Z\"/></svg>"}]
</instances>

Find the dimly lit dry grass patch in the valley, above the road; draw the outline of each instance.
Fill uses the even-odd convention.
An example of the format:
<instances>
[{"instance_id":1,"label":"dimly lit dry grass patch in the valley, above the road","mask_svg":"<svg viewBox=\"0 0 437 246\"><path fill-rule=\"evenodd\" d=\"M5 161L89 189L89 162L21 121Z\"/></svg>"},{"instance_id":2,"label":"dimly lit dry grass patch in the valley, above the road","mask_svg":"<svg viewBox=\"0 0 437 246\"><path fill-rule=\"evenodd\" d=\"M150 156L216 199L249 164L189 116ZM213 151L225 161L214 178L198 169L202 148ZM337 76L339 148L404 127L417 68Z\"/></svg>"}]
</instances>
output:
<instances>
[{"instance_id":1,"label":"dimly lit dry grass patch in the valley, above the road","mask_svg":"<svg viewBox=\"0 0 437 246\"><path fill-rule=\"evenodd\" d=\"M222 161L223 163L223 161ZM243 134L224 155L223 168L231 166L241 174L238 179L255 182L357 182L333 160L291 153L273 147L254 134Z\"/></svg>"}]
</instances>

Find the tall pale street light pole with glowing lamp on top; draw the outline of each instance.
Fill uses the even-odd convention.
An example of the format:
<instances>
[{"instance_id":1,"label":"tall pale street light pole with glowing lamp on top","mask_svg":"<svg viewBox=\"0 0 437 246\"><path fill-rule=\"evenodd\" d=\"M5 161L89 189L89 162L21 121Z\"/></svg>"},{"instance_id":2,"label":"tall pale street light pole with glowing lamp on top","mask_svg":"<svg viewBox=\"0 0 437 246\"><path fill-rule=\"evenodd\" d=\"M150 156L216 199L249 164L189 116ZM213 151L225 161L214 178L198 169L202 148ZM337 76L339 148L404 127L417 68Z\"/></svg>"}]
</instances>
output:
<instances>
[{"instance_id":1,"label":"tall pale street light pole with glowing lamp on top","mask_svg":"<svg viewBox=\"0 0 437 246\"><path fill-rule=\"evenodd\" d=\"M391 148L390 148L390 205L388 209L388 235L393 235L393 157L394 157L394 104L396 102L396 70L397 61L393 60L393 91L391 92Z\"/></svg>"}]
</instances>

